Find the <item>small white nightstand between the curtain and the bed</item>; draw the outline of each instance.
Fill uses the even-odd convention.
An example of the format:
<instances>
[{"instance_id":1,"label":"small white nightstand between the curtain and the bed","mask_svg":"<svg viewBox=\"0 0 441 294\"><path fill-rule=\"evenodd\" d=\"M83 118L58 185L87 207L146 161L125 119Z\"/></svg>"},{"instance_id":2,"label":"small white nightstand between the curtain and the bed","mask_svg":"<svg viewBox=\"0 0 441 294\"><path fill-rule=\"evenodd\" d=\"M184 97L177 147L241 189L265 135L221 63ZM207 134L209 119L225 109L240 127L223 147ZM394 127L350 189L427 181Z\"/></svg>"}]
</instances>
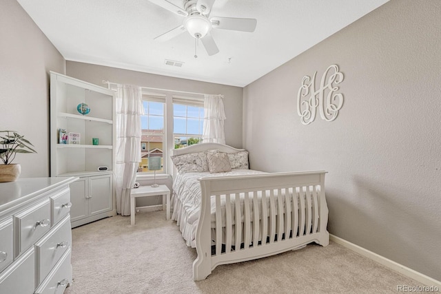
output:
<instances>
[{"instance_id":1,"label":"small white nightstand between the curtain and the bed","mask_svg":"<svg viewBox=\"0 0 441 294\"><path fill-rule=\"evenodd\" d=\"M137 197L163 196L163 210L167 211L167 220L170 220L170 189L165 185L158 187L140 186L130 191L130 224L135 224L135 202ZM154 205L150 206L154 207Z\"/></svg>"}]
</instances>

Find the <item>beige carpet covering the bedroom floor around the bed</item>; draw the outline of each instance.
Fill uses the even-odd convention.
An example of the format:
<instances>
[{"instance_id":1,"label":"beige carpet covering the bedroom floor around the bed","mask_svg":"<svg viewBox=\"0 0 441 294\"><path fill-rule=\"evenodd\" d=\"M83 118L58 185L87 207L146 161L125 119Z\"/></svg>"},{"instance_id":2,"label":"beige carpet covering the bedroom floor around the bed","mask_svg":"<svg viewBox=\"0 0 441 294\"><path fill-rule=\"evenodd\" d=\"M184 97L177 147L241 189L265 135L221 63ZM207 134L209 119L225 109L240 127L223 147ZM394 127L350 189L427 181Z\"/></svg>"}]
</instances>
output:
<instances>
[{"instance_id":1,"label":"beige carpet covering the bedroom floor around the bed","mask_svg":"<svg viewBox=\"0 0 441 294\"><path fill-rule=\"evenodd\" d=\"M66 294L89 293L396 293L420 283L334 242L218 266L194 282L196 249L163 211L115 216L72 230L74 282Z\"/></svg>"}]
</instances>

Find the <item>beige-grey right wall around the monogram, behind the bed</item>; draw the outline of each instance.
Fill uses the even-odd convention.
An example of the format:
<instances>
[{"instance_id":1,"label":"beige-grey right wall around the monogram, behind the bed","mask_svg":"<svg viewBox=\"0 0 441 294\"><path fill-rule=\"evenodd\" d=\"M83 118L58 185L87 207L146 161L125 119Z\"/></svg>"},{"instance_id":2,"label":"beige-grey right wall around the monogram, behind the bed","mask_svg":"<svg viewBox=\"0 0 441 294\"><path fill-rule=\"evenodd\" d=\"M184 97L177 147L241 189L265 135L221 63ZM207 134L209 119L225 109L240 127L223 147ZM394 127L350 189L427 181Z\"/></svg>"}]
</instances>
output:
<instances>
[{"instance_id":1,"label":"beige-grey right wall around the monogram, behind the bed","mask_svg":"<svg viewBox=\"0 0 441 294\"><path fill-rule=\"evenodd\" d=\"M325 169L330 233L441 280L441 1L391 0L244 90L251 167ZM302 77L340 66L333 122L302 125Z\"/></svg>"}]
</instances>

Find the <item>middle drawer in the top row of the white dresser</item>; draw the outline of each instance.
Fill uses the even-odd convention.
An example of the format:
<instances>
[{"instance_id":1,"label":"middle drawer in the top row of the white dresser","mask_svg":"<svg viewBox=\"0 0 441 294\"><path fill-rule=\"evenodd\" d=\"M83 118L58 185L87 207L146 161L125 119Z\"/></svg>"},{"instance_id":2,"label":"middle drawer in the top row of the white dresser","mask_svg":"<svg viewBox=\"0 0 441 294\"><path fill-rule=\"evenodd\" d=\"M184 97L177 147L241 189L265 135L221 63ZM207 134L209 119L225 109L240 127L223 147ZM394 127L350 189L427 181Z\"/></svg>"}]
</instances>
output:
<instances>
[{"instance_id":1,"label":"middle drawer in the top row of the white dresser","mask_svg":"<svg viewBox=\"0 0 441 294\"><path fill-rule=\"evenodd\" d=\"M50 202L46 199L14 216L17 245L14 257L34 245L50 230Z\"/></svg>"}]
</instances>

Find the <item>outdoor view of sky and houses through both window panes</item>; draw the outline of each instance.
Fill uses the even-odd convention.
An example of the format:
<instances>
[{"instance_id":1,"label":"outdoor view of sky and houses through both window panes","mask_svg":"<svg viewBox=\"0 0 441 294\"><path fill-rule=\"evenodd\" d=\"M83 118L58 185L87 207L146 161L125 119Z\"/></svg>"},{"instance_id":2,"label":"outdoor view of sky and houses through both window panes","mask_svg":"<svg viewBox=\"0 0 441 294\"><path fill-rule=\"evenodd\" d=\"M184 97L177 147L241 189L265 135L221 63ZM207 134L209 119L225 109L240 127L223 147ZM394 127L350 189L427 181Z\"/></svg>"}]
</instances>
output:
<instances>
[{"instance_id":1,"label":"outdoor view of sky and houses through both window panes","mask_svg":"<svg viewBox=\"0 0 441 294\"><path fill-rule=\"evenodd\" d=\"M161 157L161 170L164 171L167 132L173 132L174 148L183 148L202 142L204 107L203 101L185 101L180 98L173 102L173 113L166 117L166 99L144 96L144 115L141 117L141 162L138 172L150 172L149 158ZM166 127L166 121L173 125ZM172 143L170 143L172 145Z\"/></svg>"}]
</instances>

